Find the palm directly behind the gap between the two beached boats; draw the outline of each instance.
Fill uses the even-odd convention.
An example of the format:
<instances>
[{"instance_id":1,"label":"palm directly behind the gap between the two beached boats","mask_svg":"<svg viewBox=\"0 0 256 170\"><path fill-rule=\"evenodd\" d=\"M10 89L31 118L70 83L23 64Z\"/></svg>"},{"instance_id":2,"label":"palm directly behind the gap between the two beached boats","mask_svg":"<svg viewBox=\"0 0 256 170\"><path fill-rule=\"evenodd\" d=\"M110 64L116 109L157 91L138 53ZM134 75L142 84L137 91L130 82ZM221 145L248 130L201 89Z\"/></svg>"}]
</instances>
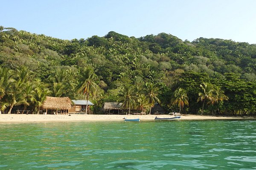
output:
<instances>
[{"instance_id":1,"label":"palm directly behind the gap between the two beached boats","mask_svg":"<svg viewBox=\"0 0 256 170\"><path fill-rule=\"evenodd\" d=\"M160 103L160 100L157 98L157 91L159 90L156 85L154 85L151 82L146 82L145 84L146 88L146 98L149 101L149 104L151 105L149 114L151 114L151 109L154 107L156 103Z\"/></svg>"}]
</instances>

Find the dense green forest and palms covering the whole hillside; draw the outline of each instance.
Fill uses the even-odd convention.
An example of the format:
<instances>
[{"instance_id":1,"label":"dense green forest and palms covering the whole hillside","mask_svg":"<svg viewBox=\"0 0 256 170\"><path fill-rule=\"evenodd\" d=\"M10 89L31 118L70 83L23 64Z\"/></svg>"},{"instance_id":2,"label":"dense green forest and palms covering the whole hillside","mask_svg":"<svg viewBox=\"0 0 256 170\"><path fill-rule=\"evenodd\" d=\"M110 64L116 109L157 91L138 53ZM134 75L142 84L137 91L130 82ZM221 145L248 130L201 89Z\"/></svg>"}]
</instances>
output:
<instances>
[{"instance_id":1,"label":"dense green forest and palms covering the whole hillside","mask_svg":"<svg viewBox=\"0 0 256 170\"><path fill-rule=\"evenodd\" d=\"M114 31L60 40L0 26L1 112L40 113L46 96L89 99L93 113L122 102L150 114L158 102L167 112L255 116L256 45Z\"/></svg>"}]
</instances>

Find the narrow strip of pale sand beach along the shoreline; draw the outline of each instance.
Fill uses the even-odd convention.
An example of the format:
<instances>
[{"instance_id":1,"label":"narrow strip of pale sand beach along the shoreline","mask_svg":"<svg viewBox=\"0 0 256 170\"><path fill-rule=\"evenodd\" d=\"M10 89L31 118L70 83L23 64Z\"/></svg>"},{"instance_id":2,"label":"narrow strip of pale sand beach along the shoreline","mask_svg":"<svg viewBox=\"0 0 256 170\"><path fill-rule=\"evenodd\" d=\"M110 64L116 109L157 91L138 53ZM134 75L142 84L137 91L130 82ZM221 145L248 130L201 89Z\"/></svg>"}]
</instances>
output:
<instances>
[{"instance_id":1,"label":"narrow strip of pale sand beach along the shoreline","mask_svg":"<svg viewBox=\"0 0 256 170\"><path fill-rule=\"evenodd\" d=\"M172 117L171 115L96 115L96 114L70 114L68 115L37 115L37 114L0 114L1 122L70 122L70 121L123 121L122 118L136 119L141 121L153 121L158 117ZM211 119L249 119L242 117L225 116L201 116L201 115L181 115L180 120L211 120Z\"/></svg>"}]
</instances>

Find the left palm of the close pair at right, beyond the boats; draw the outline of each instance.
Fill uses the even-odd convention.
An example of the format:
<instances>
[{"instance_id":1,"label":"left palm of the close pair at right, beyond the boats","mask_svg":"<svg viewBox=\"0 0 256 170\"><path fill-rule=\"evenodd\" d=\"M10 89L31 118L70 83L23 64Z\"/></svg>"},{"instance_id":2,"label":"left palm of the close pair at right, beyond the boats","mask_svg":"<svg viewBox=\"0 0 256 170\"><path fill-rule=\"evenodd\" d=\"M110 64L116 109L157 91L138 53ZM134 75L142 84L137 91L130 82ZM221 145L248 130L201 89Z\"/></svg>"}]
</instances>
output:
<instances>
[{"instance_id":1,"label":"left palm of the close pair at right, beyond the boats","mask_svg":"<svg viewBox=\"0 0 256 170\"><path fill-rule=\"evenodd\" d=\"M200 85L201 89L202 89L202 92L199 92L198 93L198 102L201 101L203 102L203 107L202 107L202 113L201 115L203 115L204 113L204 104L205 102L207 102L207 105L208 104L213 104L216 99L215 99L215 96L214 96L214 88L213 88L213 85L212 84L209 84L209 83L203 83L203 85Z\"/></svg>"}]
</instances>

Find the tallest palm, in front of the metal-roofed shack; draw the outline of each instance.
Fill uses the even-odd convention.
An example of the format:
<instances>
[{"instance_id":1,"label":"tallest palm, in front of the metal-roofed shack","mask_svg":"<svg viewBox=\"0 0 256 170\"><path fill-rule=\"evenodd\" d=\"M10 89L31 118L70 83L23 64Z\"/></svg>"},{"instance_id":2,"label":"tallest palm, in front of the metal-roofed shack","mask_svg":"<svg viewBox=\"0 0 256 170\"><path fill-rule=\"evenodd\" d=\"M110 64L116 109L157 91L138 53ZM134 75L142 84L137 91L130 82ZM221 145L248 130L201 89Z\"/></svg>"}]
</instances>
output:
<instances>
[{"instance_id":1,"label":"tallest palm, in front of the metal-roofed shack","mask_svg":"<svg viewBox=\"0 0 256 170\"><path fill-rule=\"evenodd\" d=\"M92 68L87 68L84 72L83 77L81 78L81 84L79 85L78 92L83 91L86 100L86 110L85 114L87 114L88 100L89 96L95 96L97 93L99 95L100 88L99 85L96 84L98 77L94 73Z\"/></svg>"}]
</instances>

